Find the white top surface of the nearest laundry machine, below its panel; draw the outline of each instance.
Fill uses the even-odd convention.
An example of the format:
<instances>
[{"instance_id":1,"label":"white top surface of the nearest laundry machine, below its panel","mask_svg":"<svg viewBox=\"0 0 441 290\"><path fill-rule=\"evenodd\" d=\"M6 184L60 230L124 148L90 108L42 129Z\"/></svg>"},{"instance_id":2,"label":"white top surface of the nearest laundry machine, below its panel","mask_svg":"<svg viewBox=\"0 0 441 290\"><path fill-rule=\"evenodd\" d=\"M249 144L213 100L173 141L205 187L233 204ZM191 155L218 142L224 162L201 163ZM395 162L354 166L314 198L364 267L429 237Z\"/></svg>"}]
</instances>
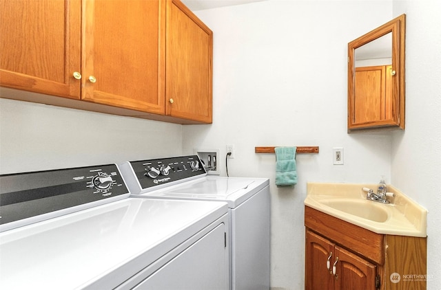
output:
<instances>
[{"instance_id":1,"label":"white top surface of the nearest laundry machine, below its panel","mask_svg":"<svg viewBox=\"0 0 441 290\"><path fill-rule=\"evenodd\" d=\"M4 289L114 289L227 213L227 203L123 199L0 234Z\"/></svg>"}]
</instances>

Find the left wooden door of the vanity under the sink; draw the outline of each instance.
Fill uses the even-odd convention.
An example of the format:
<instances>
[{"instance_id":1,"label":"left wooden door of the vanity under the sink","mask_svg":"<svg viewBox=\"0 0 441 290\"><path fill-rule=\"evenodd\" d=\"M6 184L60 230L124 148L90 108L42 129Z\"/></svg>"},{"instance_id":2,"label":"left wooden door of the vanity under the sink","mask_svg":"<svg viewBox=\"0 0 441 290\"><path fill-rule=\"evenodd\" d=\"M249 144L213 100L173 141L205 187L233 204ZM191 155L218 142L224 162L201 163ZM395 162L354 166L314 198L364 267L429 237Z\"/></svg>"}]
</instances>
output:
<instances>
[{"instance_id":1,"label":"left wooden door of the vanity under the sink","mask_svg":"<svg viewBox=\"0 0 441 290\"><path fill-rule=\"evenodd\" d=\"M305 289L333 290L334 276L327 269L327 265L332 269L334 244L307 230L305 248Z\"/></svg>"}]
</instances>

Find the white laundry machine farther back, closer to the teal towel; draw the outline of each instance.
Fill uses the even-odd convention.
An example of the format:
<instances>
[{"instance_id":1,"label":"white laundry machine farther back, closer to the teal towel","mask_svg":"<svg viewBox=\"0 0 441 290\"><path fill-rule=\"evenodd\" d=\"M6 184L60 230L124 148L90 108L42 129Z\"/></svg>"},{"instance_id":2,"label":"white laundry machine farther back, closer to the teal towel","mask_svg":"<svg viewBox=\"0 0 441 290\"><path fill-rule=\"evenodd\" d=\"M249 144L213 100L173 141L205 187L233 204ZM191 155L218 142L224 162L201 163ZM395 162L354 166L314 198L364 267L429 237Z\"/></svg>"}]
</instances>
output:
<instances>
[{"instance_id":1,"label":"white laundry machine farther back, closer to the teal towel","mask_svg":"<svg viewBox=\"0 0 441 290\"><path fill-rule=\"evenodd\" d=\"M228 203L231 289L269 289L269 179L207 176L197 155L130 161L132 197Z\"/></svg>"}]
</instances>

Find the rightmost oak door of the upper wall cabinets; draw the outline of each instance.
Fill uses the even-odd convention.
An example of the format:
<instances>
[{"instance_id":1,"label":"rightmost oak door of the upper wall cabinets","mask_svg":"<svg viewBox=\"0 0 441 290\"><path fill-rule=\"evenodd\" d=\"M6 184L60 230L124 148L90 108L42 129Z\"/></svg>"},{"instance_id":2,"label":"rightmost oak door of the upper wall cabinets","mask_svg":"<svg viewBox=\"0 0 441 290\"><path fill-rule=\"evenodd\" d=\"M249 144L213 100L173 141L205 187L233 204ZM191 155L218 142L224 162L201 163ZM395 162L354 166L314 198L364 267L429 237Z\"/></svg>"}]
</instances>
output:
<instances>
[{"instance_id":1,"label":"rightmost oak door of the upper wall cabinets","mask_svg":"<svg viewBox=\"0 0 441 290\"><path fill-rule=\"evenodd\" d=\"M211 123L213 33L178 0L167 0L166 31L166 114Z\"/></svg>"}]
</instances>

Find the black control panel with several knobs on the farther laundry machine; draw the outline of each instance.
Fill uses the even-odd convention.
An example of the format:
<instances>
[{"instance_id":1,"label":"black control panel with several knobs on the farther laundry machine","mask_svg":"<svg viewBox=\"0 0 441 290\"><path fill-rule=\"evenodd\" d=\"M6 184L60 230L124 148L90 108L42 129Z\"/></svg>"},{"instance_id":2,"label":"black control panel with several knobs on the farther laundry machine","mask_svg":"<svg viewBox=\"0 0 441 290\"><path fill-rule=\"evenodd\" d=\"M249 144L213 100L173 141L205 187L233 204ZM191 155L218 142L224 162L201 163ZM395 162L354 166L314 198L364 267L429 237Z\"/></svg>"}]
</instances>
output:
<instances>
[{"instance_id":1,"label":"black control panel with several knobs on the farther laundry machine","mask_svg":"<svg viewBox=\"0 0 441 290\"><path fill-rule=\"evenodd\" d=\"M207 173L198 155L131 161L130 166L143 189Z\"/></svg>"}]
</instances>

